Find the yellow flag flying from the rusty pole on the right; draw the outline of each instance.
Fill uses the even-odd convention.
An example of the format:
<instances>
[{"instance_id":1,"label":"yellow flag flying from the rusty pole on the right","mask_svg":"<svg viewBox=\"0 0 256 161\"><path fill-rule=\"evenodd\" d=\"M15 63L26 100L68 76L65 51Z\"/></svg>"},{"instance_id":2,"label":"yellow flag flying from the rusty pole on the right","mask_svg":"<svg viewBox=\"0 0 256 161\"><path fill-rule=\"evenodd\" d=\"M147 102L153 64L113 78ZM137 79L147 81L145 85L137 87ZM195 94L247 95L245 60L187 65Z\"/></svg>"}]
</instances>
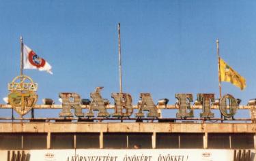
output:
<instances>
[{"instance_id":1,"label":"yellow flag flying from the rusty pole on the right","mask_svg":"<svg viewBox=\"0 0 256 161\"><path fill-rule=\"evenodd\" d=\"M220 76L222 82L231 82L231 84L239 87L241 90L244 90L246 87L246 80L238 72L233 70L227 63L220 58Z\"/></svg>"}]
</instances>

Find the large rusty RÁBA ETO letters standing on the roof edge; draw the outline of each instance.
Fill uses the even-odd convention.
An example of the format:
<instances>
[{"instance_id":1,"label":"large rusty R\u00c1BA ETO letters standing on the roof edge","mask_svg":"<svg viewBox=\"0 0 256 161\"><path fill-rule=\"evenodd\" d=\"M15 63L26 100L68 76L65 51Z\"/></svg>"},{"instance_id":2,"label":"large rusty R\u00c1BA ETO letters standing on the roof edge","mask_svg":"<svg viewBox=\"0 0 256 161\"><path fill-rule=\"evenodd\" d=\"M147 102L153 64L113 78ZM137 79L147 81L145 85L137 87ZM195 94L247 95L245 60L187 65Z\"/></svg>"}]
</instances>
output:
<instances>
[{"instance_id":1,"label":"large rusty R\u00c1BA ETO letters standing on the roof edge","mask_svg":"<svg viewBox=\"0 0 256 161\"><path fill-rule=\"evenodd\" d=\"M100 95L100 91L91 93L91 101L89 103L89 111L87 113L82 112L81 98L76 93L60 93L59 97L62 99L62 111L59 113L60 117L72 117L73 113L71 109L74 109L74 115L76 117L110 117L111 114L106 110L104 99ZM112 93L111 97L115 101L115 112L112 113L112 117L130 117L133 113L132 108L132 96L127 93ZM143 118L148 111L148 118L158 118L160 113L154 104L150 93L141 93L141 101L138 103L138 111L135 113L135 117ZM193 102L193 94L175 94L175 98L178 103L176 104L179 111L176 113L177 118L193 118L194 113L190 108L190 103ZM214 113L210 110L210 105L214 102L214 94L197 94L197 101L201 103L203 112L200 113L201 118L213 118ZM229 109L228 103L229 101ZM220 101L220 111L227 117L233 117L238 109L238 103L236 99L230 94L226 94ZM94 114L94 111L98 111L98 115ZM228 112L229 111L229 112Z\"/></svg>"}]
</instances>

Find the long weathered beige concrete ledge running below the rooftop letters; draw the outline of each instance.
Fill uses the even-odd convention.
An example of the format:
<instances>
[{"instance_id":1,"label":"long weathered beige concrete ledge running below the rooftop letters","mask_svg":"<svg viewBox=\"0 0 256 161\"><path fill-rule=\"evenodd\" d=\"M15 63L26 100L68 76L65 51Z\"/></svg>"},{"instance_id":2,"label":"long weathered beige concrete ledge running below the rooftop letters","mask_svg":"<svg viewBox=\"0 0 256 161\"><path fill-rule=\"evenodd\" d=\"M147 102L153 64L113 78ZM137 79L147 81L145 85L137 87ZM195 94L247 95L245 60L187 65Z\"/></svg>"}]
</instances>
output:
<instances>
[{"instance_id":1,"label":"long weathered beige concrete ledge running below the rooftop letters","mask_svg":"<svg viewBox=\"0 0 256 161\"><path fill-rule=\"evenodd\" d=\"M0 123L0 132L227 132L256 133L256 124L201 123L88 123L14 122Z\"/></svg>"}]
</instances>

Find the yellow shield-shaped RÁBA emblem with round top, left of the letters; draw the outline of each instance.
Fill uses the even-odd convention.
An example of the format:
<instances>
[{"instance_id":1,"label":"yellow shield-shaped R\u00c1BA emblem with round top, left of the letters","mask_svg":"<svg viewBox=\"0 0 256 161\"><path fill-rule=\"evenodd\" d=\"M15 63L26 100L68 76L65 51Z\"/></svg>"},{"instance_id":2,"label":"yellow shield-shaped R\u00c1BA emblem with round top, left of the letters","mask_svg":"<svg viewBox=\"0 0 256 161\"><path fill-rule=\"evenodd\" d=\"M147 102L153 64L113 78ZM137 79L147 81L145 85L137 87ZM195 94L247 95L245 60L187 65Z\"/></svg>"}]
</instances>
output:
<instances>
[{"instance_id":1,"label":"yellow shield-shaped R\u00c1BA emblem with round top, left of the letters","mask_svg":"<svg viewBox=\"0 0 256 161\"><path fill-rule=\"evenodd\" d=\"M35 103L38 101L38 95L35 91L38 89L38 84L33 83L33 80L26 76L20 75L8 84L10 94L8 99L12 108L20 115L28 113Z\"/></svg>"}]
</instances>

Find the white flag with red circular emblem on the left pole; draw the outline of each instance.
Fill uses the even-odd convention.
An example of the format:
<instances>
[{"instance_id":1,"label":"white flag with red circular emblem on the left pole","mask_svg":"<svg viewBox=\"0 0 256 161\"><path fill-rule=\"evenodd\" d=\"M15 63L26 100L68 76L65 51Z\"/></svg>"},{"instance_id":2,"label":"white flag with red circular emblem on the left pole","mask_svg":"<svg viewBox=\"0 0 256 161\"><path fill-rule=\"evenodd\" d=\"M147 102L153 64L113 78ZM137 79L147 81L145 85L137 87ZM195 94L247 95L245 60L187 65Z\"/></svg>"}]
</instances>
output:
<instances>
[{"instance_id":1,"label":"white flag with red circular emblem on the left pole","mask_svg":"<svg viewBox=\"0 0 256 161\"><path fill-rule=\"evenodd\" d=\"M40 71L47 71L48 73L53 74L51 71L51 65L49 65L46 60L35 54L35 52L25 44L23 46L23 54L23 69L38 69Z\"/></svg>"}]
</instances>

